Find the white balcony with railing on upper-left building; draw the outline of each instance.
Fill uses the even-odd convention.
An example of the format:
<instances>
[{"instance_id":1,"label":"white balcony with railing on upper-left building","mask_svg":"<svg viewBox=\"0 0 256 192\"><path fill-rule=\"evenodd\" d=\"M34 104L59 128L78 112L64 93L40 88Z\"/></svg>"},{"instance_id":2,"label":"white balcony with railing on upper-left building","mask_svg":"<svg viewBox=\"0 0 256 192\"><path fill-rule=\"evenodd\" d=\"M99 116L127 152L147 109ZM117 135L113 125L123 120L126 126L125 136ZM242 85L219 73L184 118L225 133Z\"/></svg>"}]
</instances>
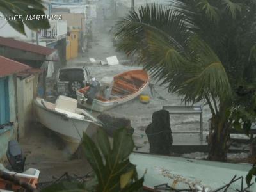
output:
<instances>
[{"instance_id":1,"label":"white balcony with railing on upper-left building","mask_svg":"<svg viewBox=\"0 0 256 192\"><path fill-rule=\"evenodd\" d=\"M66 38L67 36L67 21L65 20L54 20L49 21L50 28L49 29L41 29L39 38L40 40L60 40Z\"/></svg>"}]
</instances>

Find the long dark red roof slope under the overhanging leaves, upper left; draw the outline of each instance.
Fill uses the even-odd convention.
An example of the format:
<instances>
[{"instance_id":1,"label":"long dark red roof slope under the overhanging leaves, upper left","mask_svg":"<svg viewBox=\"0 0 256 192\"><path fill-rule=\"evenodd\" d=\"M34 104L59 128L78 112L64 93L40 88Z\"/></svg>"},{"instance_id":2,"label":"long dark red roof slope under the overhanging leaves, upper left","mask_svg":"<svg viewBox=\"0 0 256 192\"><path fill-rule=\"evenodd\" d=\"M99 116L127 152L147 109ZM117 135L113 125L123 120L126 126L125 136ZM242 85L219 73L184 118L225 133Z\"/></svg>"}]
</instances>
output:
<instances>
[{"instance_id":1,"label":"long dark red roof slope under the overhanging leaves, upper left","mask_svg":"<svg viewBox=\"0 0 256 192\"><path fill-rule=\"evenodd\" d=\"M28 52L34 52L36 54L42 54L45 56L48 56L52 54L52 52L56 51L56 49L51 49L49 47L29 44L27 42L14 40L13 38L4 38L2 36L0 36L0 46L11 47L13 49L19 49Z\"/></svg>"}]
</instances>

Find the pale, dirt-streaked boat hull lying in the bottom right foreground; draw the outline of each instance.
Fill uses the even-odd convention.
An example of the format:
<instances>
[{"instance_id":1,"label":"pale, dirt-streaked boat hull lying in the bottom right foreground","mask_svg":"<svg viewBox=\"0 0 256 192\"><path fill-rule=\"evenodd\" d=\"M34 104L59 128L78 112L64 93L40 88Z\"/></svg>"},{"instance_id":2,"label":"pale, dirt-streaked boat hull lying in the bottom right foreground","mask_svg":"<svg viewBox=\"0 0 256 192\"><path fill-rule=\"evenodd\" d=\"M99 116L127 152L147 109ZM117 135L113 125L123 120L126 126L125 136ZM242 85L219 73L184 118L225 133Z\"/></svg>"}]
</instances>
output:
<instances>
[{"instance_id":1,"label":"pale, dirt-streaked boat hull lying in the bottom right foreground","mask_svg":"<svg viewBox=\"0 0 256 192\"><path fill-rule=\"evenodd\" d=\"M158 191L155 186L160 188L164 184L162 187L171 187L178 191L194 189L196 192L204 190L221 192L225 191L225 188L218 189L230 183L235 175L237 180L234 179L227 192L233 192L236 189L241 191L242 187L243 189L247 187L245 177L252 168L252 164L221 163L140 153L131 154L129 159L132 164L136 165L139 177L145 174L143 185L148 191L154 191L154 189ZM255 177L252 178L252 183L254 181ZM246 191L255 192L256 184Z\"/></svg>"}]
</instances>

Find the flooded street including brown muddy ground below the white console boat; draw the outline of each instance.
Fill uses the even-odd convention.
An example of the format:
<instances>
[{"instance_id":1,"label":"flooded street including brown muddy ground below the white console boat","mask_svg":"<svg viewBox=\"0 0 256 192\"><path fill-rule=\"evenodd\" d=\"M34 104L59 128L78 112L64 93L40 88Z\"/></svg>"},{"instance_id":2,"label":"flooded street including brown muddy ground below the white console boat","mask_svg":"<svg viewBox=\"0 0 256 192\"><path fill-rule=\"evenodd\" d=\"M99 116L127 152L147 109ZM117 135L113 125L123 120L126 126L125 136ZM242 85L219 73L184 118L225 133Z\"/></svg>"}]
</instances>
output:
<instances>
[{"instance_id":1,"label":"flooded street including brown muddy ground below the white console boat","mask_svg":"<svg viewBox=\"0 0 256 192\"><path fill-rule=\"evenodd\" d=\"M135 63L132 58L128 58L124 52L116 51L111 29L115 24L115 20L118 19L104 19L102 8L106 6L106 4L100 1L96 4L97 18L92 20L93 36L92 42L90 42L90 48L79 54L77 58L69 60L67 67L85 66L90 70L92 77L96 77L97 81L100 81L102 77L115 76L127 70L141 69L143 66L138 65L139 63ZM129 3L126 2L126 4ZM123 8L123 13L129 10L125 8L124 4L120 7ZM105 13L108 15L108 12ZM111 14L109 17L111 17ZM101 65L101 63L107 62L106 58L109 56L116 56L120 64ZM152 113L162 109L164 105L185 105L181 101L182 98L174 93L169 93L168 89L164 86L160 86L159 82L155 79L151 79L150 83L154 84L154 90L150 90L149 86L147 86L143 92L143 94L150 96L150 102L148 104L141 103L137 97L108 111L104 111L104 113L108 115L125 117L131 120L131 126L134 128L133 139L136 145L134 150L137 152L149 152L148 138L145 134L145 129L148 124L152 122ZM203 141L199 141L199 115L170 115L173 145L207 146L206 136L209 134L208 120L211 118L211 112L209 107L202 103L196 103L194 106L202 106L203 109ZM97 116L99 113L93 111L92 115ZM35 124L35 127L36 131L30 132L30 135L20 140L20 143L27 156L26 166L33 166L40 170L40 182L58 178L65 172L76 175L86 175L86 173L91 171L85 159L70 159L71 154L65 147L65 144L63 144L60 138L53 132L42 127L40 124ZM238 137L244 138L246 136L239 134ZM248 146L245 145L245 148L248 148ZM184 150L191 150L193 153L184 154L183 157L195 159L204 159L207 157L207 153L196 152L196 148L193 147L187 147L184 148ZM228 158L246 158L247 155L247 153L228 154Z\"/></svg>"}]
</instances>

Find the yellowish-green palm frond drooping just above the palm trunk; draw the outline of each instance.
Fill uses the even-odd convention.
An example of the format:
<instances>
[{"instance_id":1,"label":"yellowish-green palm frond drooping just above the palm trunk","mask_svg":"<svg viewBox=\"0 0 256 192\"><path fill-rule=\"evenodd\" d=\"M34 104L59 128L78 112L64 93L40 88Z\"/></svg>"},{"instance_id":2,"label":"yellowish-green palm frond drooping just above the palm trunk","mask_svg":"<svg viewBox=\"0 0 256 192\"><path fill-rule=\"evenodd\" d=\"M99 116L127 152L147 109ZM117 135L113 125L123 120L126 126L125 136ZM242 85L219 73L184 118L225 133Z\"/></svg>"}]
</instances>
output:
<instances>
[{"instance_id":1,"label":"yellowish-green palm frond drooping just above the palm trunk","mask_svg":"<svg viewBox=\"0 0 256 192\"><path fill-rule=\"evenodd\" d=\"M231 94L228 76L218 56L211 47L197 37L191 40L193 50L191 63L186 65L177 78L177 86L173 91L184 95L187 102L198 102L205 99L205 95L222 98ZM179 79L183 79L179 83Z\"/></svg>"}]
</instances>

